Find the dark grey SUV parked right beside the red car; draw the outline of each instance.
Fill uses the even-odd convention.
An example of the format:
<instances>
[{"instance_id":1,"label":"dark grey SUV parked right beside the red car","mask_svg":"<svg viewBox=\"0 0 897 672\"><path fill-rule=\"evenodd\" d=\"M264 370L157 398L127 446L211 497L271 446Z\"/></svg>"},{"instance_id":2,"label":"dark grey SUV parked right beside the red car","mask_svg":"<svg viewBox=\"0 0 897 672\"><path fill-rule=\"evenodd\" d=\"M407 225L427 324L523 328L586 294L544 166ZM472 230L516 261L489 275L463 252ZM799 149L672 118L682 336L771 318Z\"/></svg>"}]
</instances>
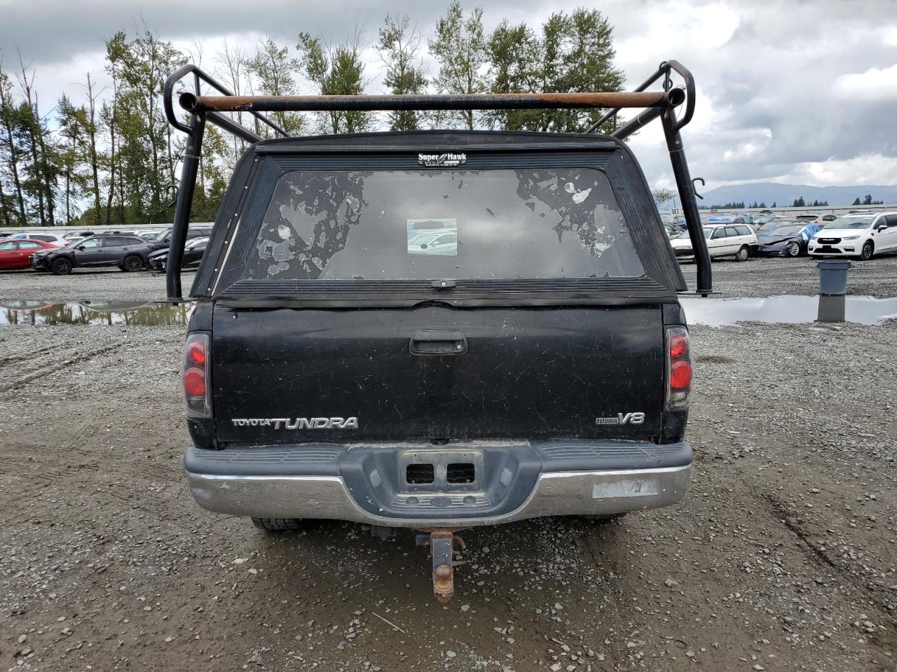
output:
<instances>
[{"instance_id":1,"label":"dark grey SUV parked right beside the red car","mask_svg":"<svg viewBox=\"0 0 897 672\"><path fill-rule=\"evenodd\" d=\"M31 255L31 268L66 275L76 268L118 266L122 271L142 271L155 249L143 238L130 236L93 236L73 246L46 250Z\"/></svg>"}]
</instances>

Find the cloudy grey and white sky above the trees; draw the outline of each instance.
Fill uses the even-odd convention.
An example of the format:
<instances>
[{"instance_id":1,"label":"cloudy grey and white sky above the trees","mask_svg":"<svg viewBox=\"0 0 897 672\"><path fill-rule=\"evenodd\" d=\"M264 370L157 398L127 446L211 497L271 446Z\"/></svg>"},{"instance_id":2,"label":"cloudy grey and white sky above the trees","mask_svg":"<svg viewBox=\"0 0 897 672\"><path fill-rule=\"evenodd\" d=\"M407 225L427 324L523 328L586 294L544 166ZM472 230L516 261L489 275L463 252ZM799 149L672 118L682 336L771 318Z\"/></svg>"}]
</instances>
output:
<instances>
[{"instance_id":1,"label":"cloudy grey and white sky above the trees","mask_svg":"<svg viewBox=\"0 0 897 672\"><path fill-rule=\"evenodd\" d=\"M447 2L381 0L0 0L0 49L9 69L37 70L42 107L83 73L103 77L103 40L145 22L213 69L224 39L251 50L266 34L294 45L300 30L328 41L361 24L374 42L386 13L407 13L424 34ZM466 7L473 2L464 3ZM502 18L536 25L577 3L483 3L487 28ZM692 175L708 187L746 181L807 185L897 184L897 0L605 0L616 63L629 85L665 58L692 69L694 121L684 131ZM369 50L370 91L382 92ZM670 185L659 128L631 144L652 185Z\"/></svg>"}]
</instances>

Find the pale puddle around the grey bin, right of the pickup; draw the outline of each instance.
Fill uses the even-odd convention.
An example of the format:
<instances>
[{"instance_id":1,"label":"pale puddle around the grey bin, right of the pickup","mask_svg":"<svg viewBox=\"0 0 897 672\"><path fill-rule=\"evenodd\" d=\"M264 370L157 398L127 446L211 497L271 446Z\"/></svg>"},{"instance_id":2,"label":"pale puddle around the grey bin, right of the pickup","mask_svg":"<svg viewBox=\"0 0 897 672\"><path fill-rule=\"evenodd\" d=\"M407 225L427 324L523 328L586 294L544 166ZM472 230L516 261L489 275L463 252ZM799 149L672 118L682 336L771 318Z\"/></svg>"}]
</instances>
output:
<instances>
[{"instance_id":1,"label":"pale puddle around the grey bin, right of the pickup","mask_svg":"<svg viewBox=\"0 0 897 672\"><path fill-rule=\"evenodd\" d=\"M781 295L763 298L680 297L689 324L711 327L731 326L740 322L800 324L815 322L820 297ZM845 297L847 322L880 324L897 318L897 298Z\"/></svg>"}]
</instances>

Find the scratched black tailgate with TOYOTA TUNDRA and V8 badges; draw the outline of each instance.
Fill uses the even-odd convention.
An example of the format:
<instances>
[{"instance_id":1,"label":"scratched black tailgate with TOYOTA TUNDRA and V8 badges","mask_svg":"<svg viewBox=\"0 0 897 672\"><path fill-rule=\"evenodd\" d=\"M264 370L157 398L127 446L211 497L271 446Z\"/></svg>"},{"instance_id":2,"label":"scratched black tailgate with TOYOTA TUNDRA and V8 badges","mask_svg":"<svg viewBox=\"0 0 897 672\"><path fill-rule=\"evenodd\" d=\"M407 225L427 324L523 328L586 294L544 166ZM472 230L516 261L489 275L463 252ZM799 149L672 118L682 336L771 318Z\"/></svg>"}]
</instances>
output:
<instances>
[{"instance_id":1,"label":"scratched black tailgate with TOYOTA TUNDRA and V8 badges","mask_svg":"<svg viewBox=\"0 0 897 672\"><path fill-rule=\"evenodd\" d=\"M216 306L213 320L222 444L660 432L659 305Z\"/></svg>"}]
</instances>

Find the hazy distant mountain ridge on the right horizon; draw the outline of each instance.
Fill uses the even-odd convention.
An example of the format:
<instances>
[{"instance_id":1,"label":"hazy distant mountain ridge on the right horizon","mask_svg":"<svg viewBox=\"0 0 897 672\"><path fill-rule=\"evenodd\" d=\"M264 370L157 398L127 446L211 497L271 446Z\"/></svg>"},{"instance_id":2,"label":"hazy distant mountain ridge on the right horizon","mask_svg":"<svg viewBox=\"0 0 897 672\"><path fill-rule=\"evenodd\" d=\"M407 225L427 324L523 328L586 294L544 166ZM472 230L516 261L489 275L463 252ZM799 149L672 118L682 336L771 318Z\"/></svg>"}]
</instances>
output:
<instances>
[{"instance_id":1,"label":"hazy distant mountain ridge on the right horizon","mask_svg":"<svg viewBox=\"0 0 897 672\"><path fill-rule=\"evenodd\" d=\"M698 187L699 191L701 187ZM803 197L805 202L827 201L829 205L850 205L855 199L860 201L867 195L873 201L897 203L897 185L858 185L858 186L808 186L779 185L775 182L752 182L746 185L718 186L704 192L704 200L699 199L698 206L721 205L723 203L744 202L750 206L753 202L763 202L771 206L773 202L788 207L796 199Z\"/></svg>"}]
</instances>

